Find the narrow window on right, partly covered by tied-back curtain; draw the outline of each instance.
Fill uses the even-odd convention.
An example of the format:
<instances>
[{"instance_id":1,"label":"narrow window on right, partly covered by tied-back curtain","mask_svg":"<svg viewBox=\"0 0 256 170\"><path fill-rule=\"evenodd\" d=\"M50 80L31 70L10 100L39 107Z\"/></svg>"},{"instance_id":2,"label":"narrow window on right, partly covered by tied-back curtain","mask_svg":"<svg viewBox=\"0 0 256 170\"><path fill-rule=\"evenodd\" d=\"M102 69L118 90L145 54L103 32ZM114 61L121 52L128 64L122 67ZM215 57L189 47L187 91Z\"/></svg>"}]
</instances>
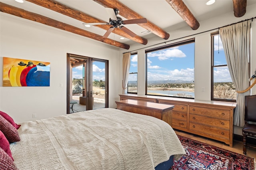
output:
<instances>
[{"instance_id":1,"label":"narrow window on right, partly covered by tied-back curtain","mask_svg":"<svg viewBox=\"0 0 256 170\"><path fill-rule=\"evenodd\" d=\"M212 68L211 68L211 100L236 101L236 90L232 82L223 45L216 32L211 35Z\"/></svg>"}]
</instances>

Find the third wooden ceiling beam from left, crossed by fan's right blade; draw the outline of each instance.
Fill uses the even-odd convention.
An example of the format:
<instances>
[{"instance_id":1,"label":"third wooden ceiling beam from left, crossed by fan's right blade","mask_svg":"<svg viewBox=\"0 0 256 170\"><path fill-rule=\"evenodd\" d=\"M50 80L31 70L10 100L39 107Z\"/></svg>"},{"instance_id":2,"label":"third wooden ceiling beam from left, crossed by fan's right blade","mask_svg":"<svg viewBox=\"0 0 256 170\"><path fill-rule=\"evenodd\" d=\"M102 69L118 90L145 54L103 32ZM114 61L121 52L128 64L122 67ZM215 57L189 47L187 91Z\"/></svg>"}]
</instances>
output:
<instances>
[{"instance_id":1,"label":"third wooden ceiling beam from left, crossed by fan's right blade","mask_svg":"<svg viewBox=\"0 0 256 170\"><path fill-rule=\"evenodd\" d=\"M98 4L101 4L104 7L118 9L119 15L123 16L128 20L144 18L140 16L140 14L137 14L136 12L134 12L133 10L131 10L130 8L128 8L118 0L94 0L94 1L97 2ZM163 38L164 40L167 40L170 37L170 34L168 34L164 30L162 30L162 28L159 28L158 26L156 26L150 21L148 21L145 24L138 24L138 25L145 28L146 30L149 30L150 32L159 36L160 38Z\"/></svg>"}]
</instances>

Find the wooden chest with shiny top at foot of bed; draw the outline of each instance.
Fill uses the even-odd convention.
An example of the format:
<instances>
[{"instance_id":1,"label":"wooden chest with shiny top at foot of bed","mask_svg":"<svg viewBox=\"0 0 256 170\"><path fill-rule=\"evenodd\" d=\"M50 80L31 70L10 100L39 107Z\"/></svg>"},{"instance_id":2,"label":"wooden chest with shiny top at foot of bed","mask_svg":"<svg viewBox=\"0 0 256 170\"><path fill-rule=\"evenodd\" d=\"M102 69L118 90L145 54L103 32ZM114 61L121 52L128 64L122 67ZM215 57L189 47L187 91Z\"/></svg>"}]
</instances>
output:
<instances>
[{"instance_id":1,"label":"wooden chest with shiny top at foot of bed","mask_svg":"<svg viewBox=\"0 0 256 170\"><path fill-rule=\"evenodd\" d=\"M165 121L169 125L172 124L171 117L172 109L174 108L174 106L172 105L165 105L146 101L136 101L130 99L116 101L116 105L117 109L119 110L156 117Z\"/></svg>"}]
</instances>

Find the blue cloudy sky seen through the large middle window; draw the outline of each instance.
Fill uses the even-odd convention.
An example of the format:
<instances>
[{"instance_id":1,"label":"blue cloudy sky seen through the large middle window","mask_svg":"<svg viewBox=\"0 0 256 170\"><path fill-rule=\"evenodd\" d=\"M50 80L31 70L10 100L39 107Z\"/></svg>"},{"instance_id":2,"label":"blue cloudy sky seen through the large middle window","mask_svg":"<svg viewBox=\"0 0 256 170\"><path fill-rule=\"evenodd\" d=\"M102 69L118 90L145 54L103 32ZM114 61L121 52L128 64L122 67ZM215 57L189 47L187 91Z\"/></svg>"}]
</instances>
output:
<instances>
[{"instance_id":1,"label":"blue cloudy sky seen through the large middle window","mask_svg":"<svg viewBox=\"0 0 256 170\"><path fill-rule=\"evenodd\" d=\"M194 80L194 43L147 54L148 81Z\"/></svg>"}]
</instances>

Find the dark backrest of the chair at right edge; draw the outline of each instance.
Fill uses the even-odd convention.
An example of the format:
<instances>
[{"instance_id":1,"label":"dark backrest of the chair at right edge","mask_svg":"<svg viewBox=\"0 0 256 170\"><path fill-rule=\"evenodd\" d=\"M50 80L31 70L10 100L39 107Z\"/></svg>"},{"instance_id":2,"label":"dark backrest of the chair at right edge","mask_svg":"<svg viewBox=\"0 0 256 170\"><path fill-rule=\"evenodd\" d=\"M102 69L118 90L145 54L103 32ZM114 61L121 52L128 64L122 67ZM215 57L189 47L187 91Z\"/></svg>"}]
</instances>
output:
<instances>
[{"instance_id":1,"label":"dark backrest of the chair at right edge","mask_svg":"<svg viewBox=\"0 0 256 170\"><path fill-rule=\"evenodd\" d=\"M256 95L245 96L244 120L256 122Z\"/></svg>"}]
</instances>

